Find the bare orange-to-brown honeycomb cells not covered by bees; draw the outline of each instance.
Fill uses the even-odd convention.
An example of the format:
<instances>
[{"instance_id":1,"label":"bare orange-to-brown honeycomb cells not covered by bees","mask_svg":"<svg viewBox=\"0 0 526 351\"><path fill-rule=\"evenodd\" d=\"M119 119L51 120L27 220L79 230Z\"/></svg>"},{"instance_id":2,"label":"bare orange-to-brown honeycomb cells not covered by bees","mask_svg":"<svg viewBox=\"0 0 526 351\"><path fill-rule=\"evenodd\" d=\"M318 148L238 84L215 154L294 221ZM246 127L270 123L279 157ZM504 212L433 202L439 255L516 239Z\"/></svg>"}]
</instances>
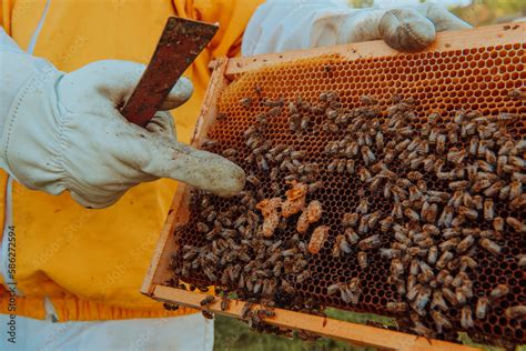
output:
<instances>
[{"instance_id":1,"label":"bare orange-to-brown honeycomb cells not covered by bees","mask_svg":"<svg viewBox=\"0 0 526 351\"><path fill-rule=\"evenodd\" d=\"M392 104L391 98L394 94L402 94L404 99L411 98L415 101L417 118L413 120L413 127L417 129L426 123L426 116L432 111L439 113L436 122L441 126L449 123L455 111L461 109L478 111L484 117L496 117L502 112L518 113L520 119L508 124L508 128L516 139L524 139L526 129L523 118L526 112L524 102L512 99L508 93L513 89L525 87L525 50L526 44L523 43L357 60L325 56L270 66L243 73L230 83L219 100L220 112L225 118L218 120L209 131L208 138L219 142L214 152L222 153L231 148L239 151L237 163L247 173L253 173L262 180L259 188L265 198L274 195L269 174L245 161L250 149L243 138L243 132L256 123L256 117L269 111L269 107L262 103L260 94L270 100L283 97L285 101L293 101L301 96L304 101L314 103L322 92L336 91L344 110L360 107L362 96L374 97L378 101L378 107L385 110ZM250 108L240 104L245 98L252 101ZM327 134L318 128L323 123L323 116L316 117L304 133L293 133L289 129L289 118L290 112L285 108L281 116L269 120L262 133L273 144L285 143L295 150L305 151L306 161L318 163L321 169L325 170L331 159L323 153L323 150L328 142L338 140L337 133ZM302 283L294 283L297 293L320 301L324 307L396 317L385 308L387 302L399 299L395 287L387 282L390 260L383 259L378 252L370 253L368 267L362 269L356 254L342 258L334 258L331 254L335 237L344 231L342 217L356 208L361 200L360 190L364 189L365 195L370 199L370 212L380 210L382 213L390 213L392 202L371 193L356 180L356 176L322 171L318 179L323 181L323 188L312 199L323 203L324 214L317 224L328 225L331 231L320 254L307 257L307 270L311 277ZM425 180L428 188L449 191L446 183L436 177ZM282 191L286 190L284 182L281 187ZM226 210L236 201L213 198L213 204L219 210ZM509 211L507 205L498 200L495 203L495 211L496 215L503 218L514 215L526 220L524 209ZM179 248L184 244L200 247L206 243L204 235L196 231L196 221L192 220L198 215L195 209L192 210L189 223L175 232ZM487 224L482 224L481 228L484 229L484 225ZM294 233L295 225L287 225L287 230L279 231L273 240L287 240ZM388 248L392 238L386 233L380 235L382 247ZM526 253L526 240L524 234L507 232L496 242L503 248L500 255L488 254L481 248L474 255L478 261L478 269L471 275L474 282L474 295L488 295L499 283L507 284L510 293L493 303L485 319L474 318L475 325L468 330L468 334L489 343L507 341L524 344L526 320L509 319L504 311L510 305L526 304L526 279L515 259L516 255ZM181 255L174 264L182 264ZM331 284L345 283L356 277L363 282L358 304L350 305L337 295L327 293L327 287ZM195 273L185 280L198 285L219 283L202 273ZM454 323L454 330L439 334L438 338L456 340L454 331L462 330L461 310L451 308L445 315ZM426 320L431 323L429 317L426 317ZM402 320L401 325L403 329Z\"/></svg>"}]
</instances>

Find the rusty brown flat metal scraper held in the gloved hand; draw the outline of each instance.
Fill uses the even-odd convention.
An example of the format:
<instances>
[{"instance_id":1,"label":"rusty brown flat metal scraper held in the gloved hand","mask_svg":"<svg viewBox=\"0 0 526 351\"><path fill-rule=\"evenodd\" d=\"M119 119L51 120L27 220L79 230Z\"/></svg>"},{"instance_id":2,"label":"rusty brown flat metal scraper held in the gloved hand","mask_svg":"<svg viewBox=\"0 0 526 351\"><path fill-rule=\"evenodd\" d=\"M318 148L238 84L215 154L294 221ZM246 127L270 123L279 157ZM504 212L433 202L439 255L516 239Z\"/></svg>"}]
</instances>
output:
<instances>
[{"instance_id":1,"label":"rusty brown flat metal scraper held in the gloved hand","mask_svg":"<svg viewBox=\"0 0 526 351\"><path fill-rule=\"evenodd\" d=\"M146 70L121 110L127 120L145 127L218 29L215 24L169 18Z\"/></svg>"}]
</instances>

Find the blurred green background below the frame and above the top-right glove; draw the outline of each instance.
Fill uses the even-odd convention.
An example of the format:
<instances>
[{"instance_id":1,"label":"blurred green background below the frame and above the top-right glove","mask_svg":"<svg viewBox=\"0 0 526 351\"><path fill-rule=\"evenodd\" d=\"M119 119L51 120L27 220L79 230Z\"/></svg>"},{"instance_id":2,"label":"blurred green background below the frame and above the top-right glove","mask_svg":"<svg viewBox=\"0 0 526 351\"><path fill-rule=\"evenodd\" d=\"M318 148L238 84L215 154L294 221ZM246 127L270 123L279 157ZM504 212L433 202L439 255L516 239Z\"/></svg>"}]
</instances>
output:
<instances>
[{"instance_id":1,"label":"blurred green background below the frame and above the top-right glove","mask_svg":"<svg viewBox=\"0 0 526 351\"><path fill-rule=\"evenodd\" d=\"M366 8L373 4L373 0L348 0L348 2L355 8ZM375 4L382 6L411 4L418 2L425 1L374 1ZM475 27L526 20L526 0L446 0L436 2L445 3L453 13ZM326 312L331 318L355 323L365 323L367 320L382 323L392 323L390 319L374 314L358 314L334 309L327 309ZM476 345L465 334L461 334L459 340L465 343ZM486 350L498 350L496 348L483 345L477 347L484 348ZM318 339L315 342L305 342L297 337L294 339L287 339L284 337L260 334L252 332L246 327L246 324L241 321L221 315L215 318L214 349L218 351L374 350L353 347L348 343L325 338ZM525 347L519 349L526 351Z\"/></svg>"}]
</instances>

